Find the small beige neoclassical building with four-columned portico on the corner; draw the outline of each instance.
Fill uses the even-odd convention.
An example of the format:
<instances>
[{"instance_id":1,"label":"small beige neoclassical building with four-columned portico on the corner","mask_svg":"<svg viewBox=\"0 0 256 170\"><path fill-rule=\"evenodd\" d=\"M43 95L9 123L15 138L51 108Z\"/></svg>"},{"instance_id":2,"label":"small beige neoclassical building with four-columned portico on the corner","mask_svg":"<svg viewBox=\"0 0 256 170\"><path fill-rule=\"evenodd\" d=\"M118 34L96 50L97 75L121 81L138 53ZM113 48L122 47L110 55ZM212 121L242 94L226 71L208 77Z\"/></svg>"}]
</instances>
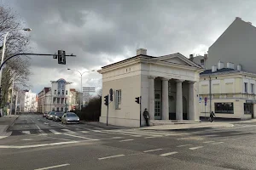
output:
<instances>
[{"instance_id":1,"label":"small beige neoclassical building with four-columned portico on the corner","mask_svg":"<svg viewBox=\"0 0 256 170\"><path fill-rule=\"evenodd\" d=\"M125 127L145 124L143 110L148 109L150 121L199 120L195 101L198 99L199 73L203 71L182 54L153 57L146 49L137 56L102 67L102 115L107 122L104 96L113 89L108 105L108 123ZM140 105L135 98L141 97ZM197 104L197 103L196 103Z\"/></svg>"}]
</instances>

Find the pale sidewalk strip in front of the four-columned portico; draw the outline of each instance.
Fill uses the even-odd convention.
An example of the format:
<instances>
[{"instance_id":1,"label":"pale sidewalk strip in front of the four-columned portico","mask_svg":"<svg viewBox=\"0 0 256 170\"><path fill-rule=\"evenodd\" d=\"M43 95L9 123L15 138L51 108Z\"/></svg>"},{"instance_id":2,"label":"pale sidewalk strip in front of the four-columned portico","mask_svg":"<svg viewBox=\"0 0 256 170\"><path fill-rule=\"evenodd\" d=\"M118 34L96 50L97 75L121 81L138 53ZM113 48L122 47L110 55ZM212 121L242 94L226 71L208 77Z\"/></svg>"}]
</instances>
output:
<instances>
[{"instance_id":1,"label":"pale sidewalk strip in front of the four-columned portico","mask_svg":"<svg viewBox=\"0 0 256 170\"><path fill-rule=\"evenodd\" d=\"M192 124L169 124L152 127L141 127L143 130L177 130L187 128L203 128L203 127L234 127L231 122L198 122Z\"/></svg>"}]
</instances>

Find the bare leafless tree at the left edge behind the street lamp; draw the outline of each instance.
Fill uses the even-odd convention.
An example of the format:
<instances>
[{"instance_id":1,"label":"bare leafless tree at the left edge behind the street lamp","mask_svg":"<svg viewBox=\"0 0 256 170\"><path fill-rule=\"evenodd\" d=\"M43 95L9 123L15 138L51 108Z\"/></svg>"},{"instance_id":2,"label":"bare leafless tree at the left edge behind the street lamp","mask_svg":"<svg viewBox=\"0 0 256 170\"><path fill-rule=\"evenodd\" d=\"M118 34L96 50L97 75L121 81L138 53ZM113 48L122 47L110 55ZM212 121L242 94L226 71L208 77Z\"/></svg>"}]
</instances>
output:
<instances>
[{"instance_id":1,"label":"bare leafless tree at the left edge behind the street lamp","mask_svg":"<svg viewBox=\"0 0 256 170\"><path fill-rule=\"evenodd\" d=\"M19 31L23 28L23 24L18 14L15 14L12 8L0 6L0 42L3 43L4 35L7 31L10 31L6 41L5 59L14 54L29 51L29 37L23 31ZM2 54L2 49L0 53ZM2 105L5 105L7 102L9 88L13 80L15 80L15 83L19 83L20 87L28 86L29 76L31 75L29 66L30 62L27 56L9 59L6 63L2 76Z\"/></svg>"}]
</instances>

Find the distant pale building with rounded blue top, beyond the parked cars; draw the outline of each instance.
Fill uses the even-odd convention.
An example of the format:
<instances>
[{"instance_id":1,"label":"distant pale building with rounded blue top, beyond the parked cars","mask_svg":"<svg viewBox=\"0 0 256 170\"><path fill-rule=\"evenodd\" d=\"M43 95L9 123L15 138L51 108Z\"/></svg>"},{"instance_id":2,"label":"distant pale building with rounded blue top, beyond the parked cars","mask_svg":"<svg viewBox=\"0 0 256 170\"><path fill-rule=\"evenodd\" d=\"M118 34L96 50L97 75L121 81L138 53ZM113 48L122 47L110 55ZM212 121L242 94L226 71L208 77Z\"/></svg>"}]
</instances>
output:
<instances>
[{"instance_id":1,"label":"distant pale building with rounded blue top, beyond the parked cars","mask_svg":"<svg viewBox=\"0 0 256 170\"><path fill-rule=\"evenodd\" d=\"M51 81L51 88L44 88L38 94L38 112L71 111L75 104L76 91L64 79Z\"/></svg>"}]
</instances>

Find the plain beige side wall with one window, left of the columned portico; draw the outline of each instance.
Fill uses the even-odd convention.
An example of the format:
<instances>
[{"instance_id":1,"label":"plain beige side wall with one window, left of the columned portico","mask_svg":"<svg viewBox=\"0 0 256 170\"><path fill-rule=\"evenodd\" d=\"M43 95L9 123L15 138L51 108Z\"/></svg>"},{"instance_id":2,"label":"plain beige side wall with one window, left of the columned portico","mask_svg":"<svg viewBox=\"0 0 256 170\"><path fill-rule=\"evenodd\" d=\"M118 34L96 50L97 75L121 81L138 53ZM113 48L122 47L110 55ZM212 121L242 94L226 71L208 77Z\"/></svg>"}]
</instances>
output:
<instances>
[{"instance_id":1,"label":"plain beige side wall with one window, left of the columned portico","mask_svg":"<svg viewBox=\"0 0 256 170\"><path fill-rule=\"evenodd\" d=\"M104 96L109 94L109 89L113 88L113 102L109 104L108 123L125 126L140 126L140 105L135 102L135 98L141 95L141 75L140 65L130 65L108 73L102 74L102 115L100 122L107 122L107 106L104 105ZM120 109L115 109L115 90L121 90Z\"/></svg>"}]
</instances>

